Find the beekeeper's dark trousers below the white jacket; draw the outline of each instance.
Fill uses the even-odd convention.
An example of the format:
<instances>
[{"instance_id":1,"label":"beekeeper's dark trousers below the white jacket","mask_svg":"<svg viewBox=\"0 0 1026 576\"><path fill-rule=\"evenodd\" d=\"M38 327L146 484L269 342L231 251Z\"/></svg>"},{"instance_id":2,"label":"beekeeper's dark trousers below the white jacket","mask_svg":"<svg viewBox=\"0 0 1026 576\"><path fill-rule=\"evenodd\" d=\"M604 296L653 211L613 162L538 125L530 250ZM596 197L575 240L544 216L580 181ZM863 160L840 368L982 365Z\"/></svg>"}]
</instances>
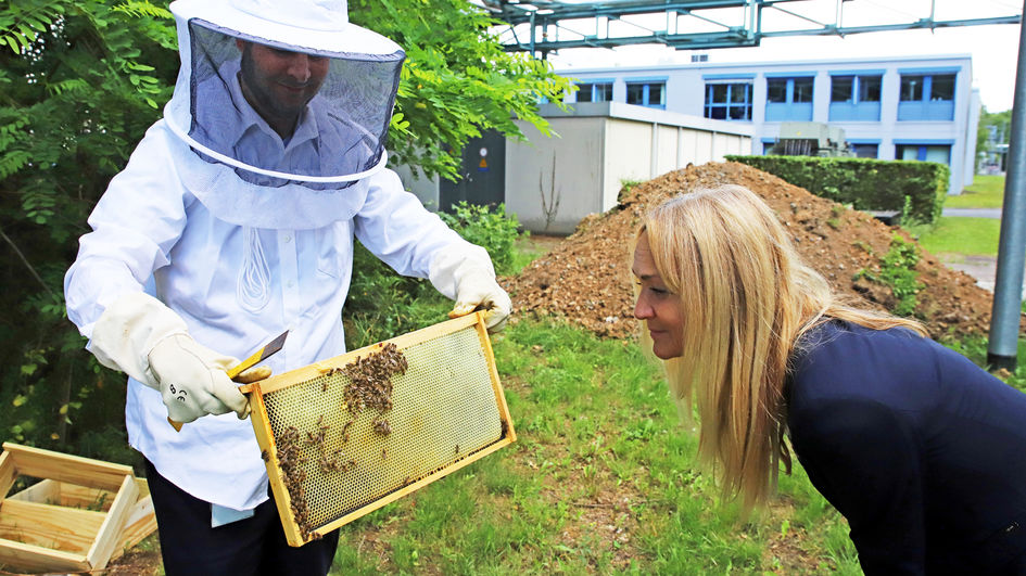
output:
<instances>
[{"instance_id":1,"label":"beekeeper's dark trousers below the white jacket","mask_svg":"<svg viewBox=\"0 0 1026 576\"><path fill-rule=\"evenodd\" d=\"M167 576L324 576L331 567L339 532L300 548L288 545L274 499L252 517L211 527L211 504L190 496L147 461L161 554Z\"/></svg>"}]
</instances>

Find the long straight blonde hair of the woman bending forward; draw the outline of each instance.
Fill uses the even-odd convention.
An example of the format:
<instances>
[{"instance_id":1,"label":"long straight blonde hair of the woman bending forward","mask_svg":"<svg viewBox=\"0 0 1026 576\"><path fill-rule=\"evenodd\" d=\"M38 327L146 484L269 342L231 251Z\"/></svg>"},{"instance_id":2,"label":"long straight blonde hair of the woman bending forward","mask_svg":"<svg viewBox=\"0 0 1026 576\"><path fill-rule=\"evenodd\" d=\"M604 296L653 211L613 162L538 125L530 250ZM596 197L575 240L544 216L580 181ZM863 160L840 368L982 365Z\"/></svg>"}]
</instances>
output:
<instances>
[{"instance_id":1,"label":"long straight blonde hair of the woman bending forward","mask_svg":"<svg viewBox=\"0 0 1026 576\"><path fill-rule=\"evenodd\" d=\"M683 354L664 362L670 389L685 413L697 407L699 457L746 511L772 492L778 459L790 468L784 383L803 333L837 318L926 335L913 320L841 303L801 261L774 212L740 185L671 199L642 220L642 232L683 311Z\"/></svg>"}]
</instances>

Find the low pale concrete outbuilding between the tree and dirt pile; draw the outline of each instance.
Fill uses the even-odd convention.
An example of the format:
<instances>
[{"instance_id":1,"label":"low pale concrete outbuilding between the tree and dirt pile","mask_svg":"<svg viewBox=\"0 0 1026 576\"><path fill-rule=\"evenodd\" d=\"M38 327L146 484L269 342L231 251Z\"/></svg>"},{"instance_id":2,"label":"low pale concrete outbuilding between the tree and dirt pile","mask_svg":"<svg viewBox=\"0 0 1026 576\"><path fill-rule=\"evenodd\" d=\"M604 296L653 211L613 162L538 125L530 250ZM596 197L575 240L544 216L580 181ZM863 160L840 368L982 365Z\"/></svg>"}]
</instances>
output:
<instances>
[{"instance_id":1,"label":"low pale concrete outbuilding between the tree and dirt pile","mask_svg":"<svg viewBox=\"0 0 1026 576\"><path fill-rule=\"evenodd\" d=\"M616 206L625 181L751 153L750 128L736 123L616 102L545 105L542 114L558 137L520 121L527 141L506 145L506 209L535 233L573 232Z\"/></svg>"}]
</instances>

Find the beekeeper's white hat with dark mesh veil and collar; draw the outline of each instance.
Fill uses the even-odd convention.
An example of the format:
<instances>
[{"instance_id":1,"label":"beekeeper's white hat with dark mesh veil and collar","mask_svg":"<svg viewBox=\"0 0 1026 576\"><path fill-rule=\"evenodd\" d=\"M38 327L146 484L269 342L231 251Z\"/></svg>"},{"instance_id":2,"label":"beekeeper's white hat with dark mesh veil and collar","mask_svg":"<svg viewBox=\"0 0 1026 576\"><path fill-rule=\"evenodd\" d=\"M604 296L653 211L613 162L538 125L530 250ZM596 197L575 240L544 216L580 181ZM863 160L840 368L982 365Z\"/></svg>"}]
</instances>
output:
<instances>
[{"instance_id":1,"label":"beekeeper's white hat with dark mesh veil and collar","mask_svg":"<svg viewBox=\"0 0 1026 576\"><path fill-rule=\"evenodd\" d=\"M352 210L333 196L352 204L362 180L383 168L405 54L351 24L346 8L172 2L181 69L164 119L189 151L176 158L179 172L218 217L252 222L238 213L252 213L254 202L281 213L287 201L300 214L263 214L263 223L297 228L281 220L305 215L315 227L329 218L324 210L346 218Z\"/></svg>"}]
</instances>

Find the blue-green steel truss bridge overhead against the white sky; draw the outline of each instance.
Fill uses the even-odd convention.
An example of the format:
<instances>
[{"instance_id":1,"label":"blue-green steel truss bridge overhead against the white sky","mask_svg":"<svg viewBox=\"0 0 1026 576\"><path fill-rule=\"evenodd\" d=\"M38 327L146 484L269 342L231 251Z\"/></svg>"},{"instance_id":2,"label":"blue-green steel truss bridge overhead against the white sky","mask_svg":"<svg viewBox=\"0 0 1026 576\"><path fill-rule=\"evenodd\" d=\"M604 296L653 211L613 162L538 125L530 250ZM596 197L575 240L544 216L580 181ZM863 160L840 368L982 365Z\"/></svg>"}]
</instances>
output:
<instances>
[{"instance_id":1,"label":"blue-green steel truss bridge overhead against the white sky","mask_svg":"<svg viewBox=\"0 0 1026 576\"><path fill-rule=\"evenodd\" d=\"M1022 20L1021 10L996 1L988 7L993 9L991 14L974 10L971 18L947 15L937 0L900 2L898 9L872 0L480 1L508 25L501 31L507 51L528 51L540 57L569 48L651 43L705 50L755 47L772 37L844 37Z\"/></svg>"}]
</instances>

